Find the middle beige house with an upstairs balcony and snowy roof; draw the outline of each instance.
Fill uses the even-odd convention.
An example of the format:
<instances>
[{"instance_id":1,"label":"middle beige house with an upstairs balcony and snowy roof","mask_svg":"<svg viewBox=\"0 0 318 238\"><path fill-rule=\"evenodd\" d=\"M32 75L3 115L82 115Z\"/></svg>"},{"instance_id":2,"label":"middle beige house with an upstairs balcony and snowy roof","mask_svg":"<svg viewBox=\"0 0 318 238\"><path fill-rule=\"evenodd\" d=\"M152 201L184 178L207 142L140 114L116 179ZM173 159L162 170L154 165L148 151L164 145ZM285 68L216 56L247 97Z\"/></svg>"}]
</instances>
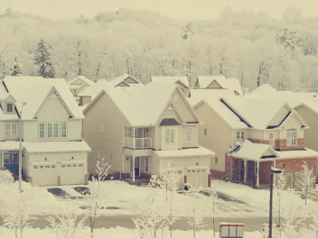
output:
<instances>
[{"instance_id":1,"label":"middle beige house with an upstairs balcony and snowy roof","mask_svg":"<svg viewBox=\"0 0 318 238\"><path fill-rule=\"evenodd\" d=\"M113 87L84 110L83 137L89 143L89 173L105 157L115 178L149 178L172 160L184 182L208 184L214 152L198 146L201 121L176 84Z\"/></svg>"}]
</instances>

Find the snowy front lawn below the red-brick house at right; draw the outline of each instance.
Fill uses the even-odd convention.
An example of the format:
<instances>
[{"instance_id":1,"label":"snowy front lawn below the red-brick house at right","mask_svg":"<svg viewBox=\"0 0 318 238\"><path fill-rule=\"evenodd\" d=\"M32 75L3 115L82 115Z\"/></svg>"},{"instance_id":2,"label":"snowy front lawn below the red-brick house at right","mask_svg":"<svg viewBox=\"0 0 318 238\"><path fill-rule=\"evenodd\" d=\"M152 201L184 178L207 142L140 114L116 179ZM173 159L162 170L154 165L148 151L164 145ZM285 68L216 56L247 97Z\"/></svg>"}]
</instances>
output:
<instances>
[{"instance_id":1,"label":"snowy front lawn below the red-brick house at right","mask_svg":"<svg viewBox=\"0 0 318 238\"><path fill-rule=\"evenodd\" d=\"M234 184L230 182L225 182L221 180L212 180L211 184L215 186L218 192L238 199L241 202L248 204L253 207L255 210L264 211L267 213L269 207L269 189L254 189L249 188L245 185ZM313 190L313 196L316 193L317 189ZM307 199L307 205L304 205L304 199L299 196L299 192L294 190L286 190L283 193L283 201L287 206L298 207L299 211L302 211L304 214L313 212L318 215L318 203L314 202L313 199ZM274 204L274 213L277 211L277 196L274 191L273 193L273 204ZM301 214L300 214L301 215Z\"/></svg>"}]
</instances>

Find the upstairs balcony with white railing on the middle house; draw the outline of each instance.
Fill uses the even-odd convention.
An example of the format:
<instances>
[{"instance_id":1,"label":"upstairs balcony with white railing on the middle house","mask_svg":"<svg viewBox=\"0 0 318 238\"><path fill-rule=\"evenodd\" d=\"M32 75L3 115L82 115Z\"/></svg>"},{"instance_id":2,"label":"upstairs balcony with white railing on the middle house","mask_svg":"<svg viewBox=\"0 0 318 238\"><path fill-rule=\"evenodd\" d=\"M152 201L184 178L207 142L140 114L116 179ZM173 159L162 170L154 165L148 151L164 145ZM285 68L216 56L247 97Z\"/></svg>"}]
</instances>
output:
<instances>
[{"instance_id":1,"label":"upstairs balcony with white railing on the middle house","mask_svg":"<svg viewBox=\"0 0 318 238\"><path fill-rule=\"evenodd\" d=\"M124 147L129 149L152 149L153 127L125 127Z\"/></svg>"}]
</instances>

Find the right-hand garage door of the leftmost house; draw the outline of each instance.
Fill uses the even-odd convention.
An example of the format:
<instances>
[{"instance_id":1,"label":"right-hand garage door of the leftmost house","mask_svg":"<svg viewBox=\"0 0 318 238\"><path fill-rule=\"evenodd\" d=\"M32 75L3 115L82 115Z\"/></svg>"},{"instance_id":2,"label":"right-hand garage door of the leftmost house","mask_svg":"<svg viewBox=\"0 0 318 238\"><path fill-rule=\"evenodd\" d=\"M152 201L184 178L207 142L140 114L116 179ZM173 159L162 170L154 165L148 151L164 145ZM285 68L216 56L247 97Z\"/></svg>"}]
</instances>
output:
<instances>
[{"instance_id":1,"label":"right-hand garage door of the leftmost house","mask_svg":"<svg viewBox=\"0 0 318 238\"><path fill-rule=\"evenodd\" d=\"M85 173L83 163L61 164L61 185L84 184Z\"/></svg>"}]
</instances>

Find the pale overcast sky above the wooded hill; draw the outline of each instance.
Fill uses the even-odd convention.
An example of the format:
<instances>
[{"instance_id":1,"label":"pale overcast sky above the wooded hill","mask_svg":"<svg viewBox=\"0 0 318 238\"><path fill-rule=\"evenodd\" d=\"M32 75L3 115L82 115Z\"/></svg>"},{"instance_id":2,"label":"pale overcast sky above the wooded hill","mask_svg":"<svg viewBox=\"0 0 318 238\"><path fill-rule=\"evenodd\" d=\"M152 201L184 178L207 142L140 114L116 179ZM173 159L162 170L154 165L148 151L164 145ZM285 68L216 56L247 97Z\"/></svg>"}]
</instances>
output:
<instances>
[{"instance_id":1,"label":"pale overcast sky above the wooded hill","mask_svg":"<svg viewBox=\"0 0 318 238\"><path fill-rule=\"evenodd\" d=\"M92 16L119 8L151 9L171 18L214 18L226 6L234 11L247 8L280 18L286 8L296 7L304 16L318 17L318 0L0 0L0 10L37 14L51 19Z\"/></svg>"}]
</instances>

